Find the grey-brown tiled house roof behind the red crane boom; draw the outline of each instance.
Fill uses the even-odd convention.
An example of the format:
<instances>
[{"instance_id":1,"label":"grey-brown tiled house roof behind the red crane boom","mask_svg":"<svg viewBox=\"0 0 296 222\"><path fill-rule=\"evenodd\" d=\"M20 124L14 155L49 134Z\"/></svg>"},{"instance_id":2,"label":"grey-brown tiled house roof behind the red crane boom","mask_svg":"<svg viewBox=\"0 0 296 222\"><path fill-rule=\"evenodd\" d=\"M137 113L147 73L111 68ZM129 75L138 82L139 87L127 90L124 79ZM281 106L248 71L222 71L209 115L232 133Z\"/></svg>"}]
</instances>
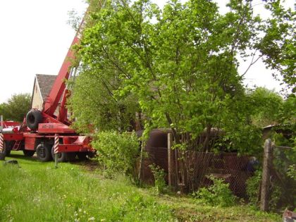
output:
<instances>
[{"instance_id":1,"label":"grey-brown tiled house roof behind the red crane boom","mask_svg":"<svg viewBox=\"0 0 296 222\"><path fill-rule=\"evenodd\" d=\"M56 77L57 75L36 74L37 84L39 85L39 90L43 101L45 101L47 96L49 96Z\"/></svg>"}]
</instances>

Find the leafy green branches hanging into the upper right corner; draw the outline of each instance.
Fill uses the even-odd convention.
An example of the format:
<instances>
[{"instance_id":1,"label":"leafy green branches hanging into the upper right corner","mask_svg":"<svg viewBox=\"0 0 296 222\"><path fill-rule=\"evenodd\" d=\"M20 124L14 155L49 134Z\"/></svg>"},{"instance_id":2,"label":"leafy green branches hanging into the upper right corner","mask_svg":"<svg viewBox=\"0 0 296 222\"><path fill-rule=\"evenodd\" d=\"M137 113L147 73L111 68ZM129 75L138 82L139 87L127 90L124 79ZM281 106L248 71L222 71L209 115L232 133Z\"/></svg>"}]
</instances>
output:
<instances>
[{"instance_id":1,"label":"leafy green branches hanging into the upper right corner","mask_svg":"<svg viewBox=\"0 0 296 222\"><path fill-rule=\"evenodd\" d=\"M266 1L265 7L271 18L264 21L261 29L265 34L254 46L261 53L266 66L282 75L283 81L296 90L296 11L285 9L280 0Z\"/></svg>"}]
</instances>

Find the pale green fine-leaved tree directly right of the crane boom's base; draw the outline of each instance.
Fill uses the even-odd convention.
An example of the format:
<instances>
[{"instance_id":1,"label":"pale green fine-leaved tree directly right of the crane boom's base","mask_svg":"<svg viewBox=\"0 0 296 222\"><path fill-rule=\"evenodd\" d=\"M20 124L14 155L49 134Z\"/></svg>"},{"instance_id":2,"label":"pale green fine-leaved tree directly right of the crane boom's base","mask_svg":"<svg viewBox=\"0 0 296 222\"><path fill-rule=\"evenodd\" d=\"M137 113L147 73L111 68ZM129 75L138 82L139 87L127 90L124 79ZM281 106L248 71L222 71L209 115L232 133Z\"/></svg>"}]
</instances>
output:
<instances>
[{"instance_id":1,"label":"pale green fine-leaved tree directly right of the crane boom's base","mask_svg":"<svg viewBox=\"0 0 296 222\"><path fill-rule=\"evenodd\" d=\"M72 82L74 90L68 101L76 118L73 127L80 132L89 132L90 125L99 130L134 129L138 106L132 95L115 97L114 90L121 86L116 70L101 71L96 63L81 68L79 77Z\"/></svg>"}]
</instances>

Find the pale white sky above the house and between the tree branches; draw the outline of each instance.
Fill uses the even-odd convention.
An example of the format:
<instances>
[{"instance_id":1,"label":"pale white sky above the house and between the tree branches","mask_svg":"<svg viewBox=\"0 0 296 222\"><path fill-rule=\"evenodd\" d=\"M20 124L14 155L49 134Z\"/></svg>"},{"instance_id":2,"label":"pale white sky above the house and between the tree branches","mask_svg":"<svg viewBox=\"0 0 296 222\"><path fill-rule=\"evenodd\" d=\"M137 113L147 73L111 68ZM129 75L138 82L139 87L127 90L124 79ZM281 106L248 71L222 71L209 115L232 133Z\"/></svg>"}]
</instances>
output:
<instances>
[{"instance_id":1,"label":"pale white sky above the house and between the tree branches","mask_svg":"<svg viewBox=\"0 0 296 222\"><path fill-rule=\"evenodd\" d=\"M154 0L160 7L165 2ZM226 1L216 2L225 13ZM285 5L293 7L294 3L288 0ZM0 103L13 94L32 94L36 74L57 75L75 35L67 23L68 12L74 10L82 15L86 8L83 0L0 0ZM262 11L260 4L255 9L256 13ZM246 68L240 66L239 72L244 73ZM281 89L280 82L261 62L250 68L245 78L249 87Z\"/></svg>"}]
</instances>

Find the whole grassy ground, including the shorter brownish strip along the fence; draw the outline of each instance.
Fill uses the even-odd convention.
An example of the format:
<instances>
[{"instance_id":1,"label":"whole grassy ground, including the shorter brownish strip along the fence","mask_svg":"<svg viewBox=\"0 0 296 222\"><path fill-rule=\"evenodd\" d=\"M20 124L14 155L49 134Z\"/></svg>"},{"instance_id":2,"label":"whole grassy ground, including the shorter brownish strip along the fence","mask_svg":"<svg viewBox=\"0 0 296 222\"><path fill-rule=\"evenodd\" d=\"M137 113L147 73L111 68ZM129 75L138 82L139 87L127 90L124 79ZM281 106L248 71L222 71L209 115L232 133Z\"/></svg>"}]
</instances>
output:
<instances>
[{"instance_id":1,"label":"whole grassy ground, including the shorter brownish strip along the fence","mask_svg":"<svg viewBox=\"0 0 296 222\"><path fill-rule=\"evenodd\" d=\"M12 152L0 161L0 221L280 221L248 206L218 208L190 197L154 195L78 164L40 163Z\"/></svg>"}]
</instances>

